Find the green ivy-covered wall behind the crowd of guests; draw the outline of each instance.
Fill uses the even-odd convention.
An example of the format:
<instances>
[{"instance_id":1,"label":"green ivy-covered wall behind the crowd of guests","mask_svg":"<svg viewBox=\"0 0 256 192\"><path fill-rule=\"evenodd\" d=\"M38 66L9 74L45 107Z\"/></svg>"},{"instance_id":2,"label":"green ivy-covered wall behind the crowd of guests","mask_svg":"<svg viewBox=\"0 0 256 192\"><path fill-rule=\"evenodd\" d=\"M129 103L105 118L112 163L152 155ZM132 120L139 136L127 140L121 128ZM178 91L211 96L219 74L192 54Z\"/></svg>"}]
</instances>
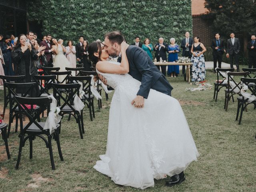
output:
<instances>
[{"instance_id":1,"label":"green ivy-covered wall behind the crowd of guests","mask_svg":"<svg viewBox=\"0 0 256 192\"><path fill-rule=\"evenodd\" d=\"M169 43L192 32L190 0L32 0L28 19L42 22L42 34L78 41L103 40L104 34L120 30L128 42L138 35L156 43Z\"/></svg>"}]
</instances>

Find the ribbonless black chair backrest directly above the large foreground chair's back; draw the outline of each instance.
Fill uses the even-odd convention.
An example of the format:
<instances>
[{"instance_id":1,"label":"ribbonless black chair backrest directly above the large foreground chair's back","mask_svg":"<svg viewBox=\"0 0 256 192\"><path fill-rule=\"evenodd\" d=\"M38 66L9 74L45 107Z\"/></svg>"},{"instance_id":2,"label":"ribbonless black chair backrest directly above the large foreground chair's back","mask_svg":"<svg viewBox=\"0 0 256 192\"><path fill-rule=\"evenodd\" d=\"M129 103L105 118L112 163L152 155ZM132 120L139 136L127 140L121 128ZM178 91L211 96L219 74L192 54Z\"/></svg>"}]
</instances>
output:
<instances>
[{"instance_id":1,"label":"ribbonless black chair backrest directly above the large foreground chair's back","mask_svg":"<svg viewBox=\"0 0 256 192\"><path fill-rule=\"evenodd\" d=\"M50 95L50 83L54 82L54 80L56 79L56 75L34 75L33 78L40 87L38 97L40 97L44 93Z\"/></svg>"}]
</instances>

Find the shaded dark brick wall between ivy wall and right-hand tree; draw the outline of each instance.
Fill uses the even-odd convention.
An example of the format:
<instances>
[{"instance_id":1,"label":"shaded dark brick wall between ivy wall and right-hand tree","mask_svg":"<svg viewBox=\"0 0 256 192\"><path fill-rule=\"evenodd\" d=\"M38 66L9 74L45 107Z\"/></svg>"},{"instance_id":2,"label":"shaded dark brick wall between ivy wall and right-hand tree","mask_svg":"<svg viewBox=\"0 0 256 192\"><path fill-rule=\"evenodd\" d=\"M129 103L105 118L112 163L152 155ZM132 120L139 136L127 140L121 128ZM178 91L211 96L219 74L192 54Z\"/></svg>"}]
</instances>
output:
<instances>
[{"instance_id":1,"label":"shaded dark brick wall between ivy wall and right-hand tree","mask_svg":"<svg viewBox=\"0 0 256 192\"><path fill-rule=\"evenodd\" d=\"M193 36L199 36L205 47L211 45L214 38L214 32L206 21L200 15L192 15L192 31Z\"/></svg>"}]
</instances>

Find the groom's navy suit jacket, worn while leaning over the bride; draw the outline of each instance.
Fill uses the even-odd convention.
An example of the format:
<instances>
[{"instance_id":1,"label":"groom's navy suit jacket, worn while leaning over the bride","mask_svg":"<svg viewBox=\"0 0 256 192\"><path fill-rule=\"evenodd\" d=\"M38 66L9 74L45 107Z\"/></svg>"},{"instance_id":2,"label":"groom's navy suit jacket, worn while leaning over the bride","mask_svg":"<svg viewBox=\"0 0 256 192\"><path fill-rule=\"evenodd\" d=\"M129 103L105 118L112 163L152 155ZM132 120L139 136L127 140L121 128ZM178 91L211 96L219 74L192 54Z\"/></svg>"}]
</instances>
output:
<instances>
[{"instance_id":1,"label":"groom's navy suit jacket, worn while leaning over the bride","mask_svg":"<svg viewBox=\"0 0 256 192\"><path fill-rule=\"evenodd\" d=\"M130 45L126 50L126 55L129 62L129 74L141 82L137 95L148 98L150 88L167 95L171 94L172 86L142 48Z\"/></svg>"}]
</instances>

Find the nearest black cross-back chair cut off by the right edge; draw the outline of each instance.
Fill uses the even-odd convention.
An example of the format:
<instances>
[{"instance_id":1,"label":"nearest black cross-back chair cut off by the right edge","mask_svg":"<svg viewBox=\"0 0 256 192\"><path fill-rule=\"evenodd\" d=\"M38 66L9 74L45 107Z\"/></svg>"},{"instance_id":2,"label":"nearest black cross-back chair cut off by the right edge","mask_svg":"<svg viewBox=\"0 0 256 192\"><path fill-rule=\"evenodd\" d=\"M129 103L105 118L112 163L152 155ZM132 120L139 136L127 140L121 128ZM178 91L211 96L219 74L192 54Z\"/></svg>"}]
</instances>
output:
<instances>
[{"instance_id":1,"label":"nearest black cross-back chair cut off by the right edge","mask_svg":"<svg viewBox=\"0 0 256 192\"><path fill-rule=\"evenodd\" d=\"M256 97L256 78L241 78L241 82L242 84L248 86L248 90L250 90L251 95ZM248 98L245 98L244 96L239 96L237 98L238 100L238 105L237 105L237 112L236 112L236 121L238 120L238 116L239 116L239 111L241 109L240 112L240 118L239 118L239 122L238 125L241 124L241 120L242 120L242 115L243 115L243 111L246 110L246 106L248 106L249 104L254 104L254 110L256 109L256 99L248 102ZM255 136L256 138L256 136Z\"/></svg>"}]
</instances>

